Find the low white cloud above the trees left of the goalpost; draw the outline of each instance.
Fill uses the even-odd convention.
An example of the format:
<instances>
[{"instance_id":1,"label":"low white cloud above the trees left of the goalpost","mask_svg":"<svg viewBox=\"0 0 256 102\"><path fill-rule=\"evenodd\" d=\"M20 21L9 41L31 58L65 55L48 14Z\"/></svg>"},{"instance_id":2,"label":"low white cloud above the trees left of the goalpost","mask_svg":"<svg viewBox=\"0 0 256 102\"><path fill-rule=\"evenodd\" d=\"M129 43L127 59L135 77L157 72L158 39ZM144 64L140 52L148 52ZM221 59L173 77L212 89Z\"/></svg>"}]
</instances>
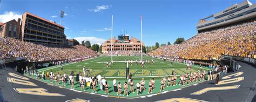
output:
<instances>
[{"instance_id":1,"label":"low white cloud above the trees left of the goalpost","mask_svg":"<svg viewBox=\"0 0 256 102\"><path fill-rule=\"evenodd\" d=\"M106 39L103 39L103 38L96 38L96 37L76 37L74 38L76 39L79 43L82 42L82 40L89 40L91 45L92 44L98 44L98 45L101 45L102 43L105 42Z\"/></svg>"}]
</instances>

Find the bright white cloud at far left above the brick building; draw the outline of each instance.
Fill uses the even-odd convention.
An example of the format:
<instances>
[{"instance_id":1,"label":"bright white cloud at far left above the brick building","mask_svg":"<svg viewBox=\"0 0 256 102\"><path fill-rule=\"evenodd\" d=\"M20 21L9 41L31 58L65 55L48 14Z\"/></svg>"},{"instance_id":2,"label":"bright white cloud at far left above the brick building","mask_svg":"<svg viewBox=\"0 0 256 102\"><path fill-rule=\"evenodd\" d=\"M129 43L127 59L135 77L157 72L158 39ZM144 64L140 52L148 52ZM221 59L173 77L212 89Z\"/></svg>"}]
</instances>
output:
<instances>
[{"instance_id":1,"label":"bright white cloud at far left above the brick building","mask_svg":"<svg viewBox=\"0 0 256 102\"><path fill-rule=\"evenodd\" d=\"M18 18L22 18L22 15L12 11L4 12L4 14L0 15L0 22L6 23L8 21L11 21L12 19L15 19L17 21Z\"/></svg>"}]
</instances>

